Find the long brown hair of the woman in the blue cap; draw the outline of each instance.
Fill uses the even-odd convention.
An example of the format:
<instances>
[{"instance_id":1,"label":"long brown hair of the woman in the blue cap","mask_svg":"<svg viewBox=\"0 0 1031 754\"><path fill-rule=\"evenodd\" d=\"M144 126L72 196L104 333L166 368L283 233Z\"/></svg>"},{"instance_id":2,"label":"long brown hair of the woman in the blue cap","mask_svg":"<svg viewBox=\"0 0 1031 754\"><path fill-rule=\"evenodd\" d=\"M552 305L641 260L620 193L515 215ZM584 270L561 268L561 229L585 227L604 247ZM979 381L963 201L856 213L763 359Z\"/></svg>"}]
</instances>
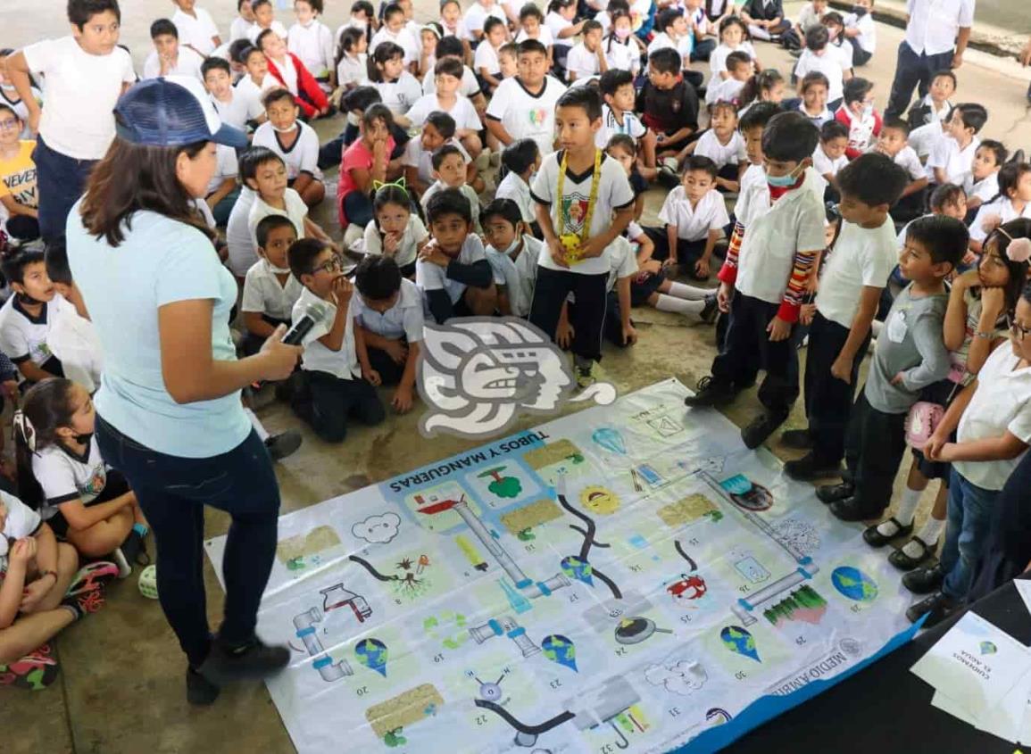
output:
<instances>
[{"instance_id":1,"label":"long brown hair of the woman in the blue cap","mask_svg":"<svg viewBox=\"0 0 1031 754\"><path fill-rule=\"evenodd\" d=\"M90 235L103 236L108 244L119 246L126 231L132 230L133 213L147 210L193 226L213 240L210 229L192 203L193 198L175 175L179 153L186 152L192 160L207 143L143 146L117 138L90 174L79 206Z\"/></svg>"}]
</instances>

